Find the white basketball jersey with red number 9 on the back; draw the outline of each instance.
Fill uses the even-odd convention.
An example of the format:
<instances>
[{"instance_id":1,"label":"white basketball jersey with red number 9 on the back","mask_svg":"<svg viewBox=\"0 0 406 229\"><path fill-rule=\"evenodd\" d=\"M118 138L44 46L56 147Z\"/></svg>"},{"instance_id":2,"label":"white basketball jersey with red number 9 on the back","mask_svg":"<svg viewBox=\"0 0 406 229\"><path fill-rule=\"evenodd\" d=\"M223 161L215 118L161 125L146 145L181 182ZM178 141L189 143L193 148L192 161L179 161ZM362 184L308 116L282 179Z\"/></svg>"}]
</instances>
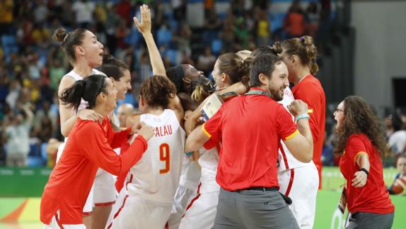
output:
<instances>
[{"instance_id":1,"label":"white basketball jersey with red number 9 on the back","mask_svg":"<svg viewBox=\"0 0 406 229\"><path fill-rule=\"evenodd\" d=\"M181 174L185 131L169 109L159 116L142 114L140 121L155 128L155 136L148 140L148 149L127 175L128 193L172 204Z\"/></svg>"}]
</instances>

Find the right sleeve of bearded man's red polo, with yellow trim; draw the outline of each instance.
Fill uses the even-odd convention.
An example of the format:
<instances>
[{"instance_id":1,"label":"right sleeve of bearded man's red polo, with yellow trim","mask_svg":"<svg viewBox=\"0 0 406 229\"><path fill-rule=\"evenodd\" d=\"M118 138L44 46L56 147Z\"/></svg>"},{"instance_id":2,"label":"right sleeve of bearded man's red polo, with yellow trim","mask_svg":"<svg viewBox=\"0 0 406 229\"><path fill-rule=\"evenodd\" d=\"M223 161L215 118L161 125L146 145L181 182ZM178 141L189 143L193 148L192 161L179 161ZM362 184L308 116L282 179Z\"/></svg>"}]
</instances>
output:
<instances>
[{"instance_id":1,"label":"right sleeve of bearded man's red polo, with yellow trim","mask_svg":"<svg viewBox=\"0 0 406 229\"><path fill-rule=\"evenodd\" d=\"M289 140L299 133L291 114L286 111L284 106L277 106L277 131L282 140Z\"/></svg>"}]
</instances>

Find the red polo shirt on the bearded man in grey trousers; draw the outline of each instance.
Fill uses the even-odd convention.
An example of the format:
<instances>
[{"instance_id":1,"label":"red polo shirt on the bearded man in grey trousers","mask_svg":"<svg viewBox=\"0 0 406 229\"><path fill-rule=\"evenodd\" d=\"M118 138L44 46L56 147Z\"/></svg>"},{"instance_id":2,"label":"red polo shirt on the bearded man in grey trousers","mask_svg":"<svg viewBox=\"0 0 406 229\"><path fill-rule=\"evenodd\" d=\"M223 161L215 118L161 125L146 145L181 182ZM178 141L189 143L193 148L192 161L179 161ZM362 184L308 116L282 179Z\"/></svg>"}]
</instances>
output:
<instances>
[{"instance_id":1,"label":"red polo shirt on the bearded man in grey trousers","mask_svg":"<svg viewBox=\"0 0 406 229\"><path fill-rule=\"evenodd\" d=\"M211 138L208 144L222 142L216 181L228 191L279 187L279 141L298 133L284 106L265 95L244 95L226 101L203 130Z\"/></svg>"}]
</instances>

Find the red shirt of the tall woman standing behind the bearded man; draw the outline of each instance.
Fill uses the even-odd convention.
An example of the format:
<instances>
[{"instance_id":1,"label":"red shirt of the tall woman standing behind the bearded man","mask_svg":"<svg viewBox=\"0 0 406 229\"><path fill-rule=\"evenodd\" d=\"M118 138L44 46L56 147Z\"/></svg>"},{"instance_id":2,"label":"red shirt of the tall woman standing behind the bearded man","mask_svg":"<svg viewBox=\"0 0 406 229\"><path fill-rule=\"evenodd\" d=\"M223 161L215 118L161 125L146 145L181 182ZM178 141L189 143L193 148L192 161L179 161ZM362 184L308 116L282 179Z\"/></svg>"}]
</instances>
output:
<instances>
[{"instance_id":1,"label":"red shirt of the tall woman standing behind the bearded man","mask_svg":"<svg viewBox=\"0 0 406 229\"><path fill-rule=\"evenodd\" d=\"M308 104L310 128L313 135L313 162L318 169L321 186L321 152L325 134L325 93L317 78L308 75L292 89L295 99Z\"/></svg>"}]
</instances>

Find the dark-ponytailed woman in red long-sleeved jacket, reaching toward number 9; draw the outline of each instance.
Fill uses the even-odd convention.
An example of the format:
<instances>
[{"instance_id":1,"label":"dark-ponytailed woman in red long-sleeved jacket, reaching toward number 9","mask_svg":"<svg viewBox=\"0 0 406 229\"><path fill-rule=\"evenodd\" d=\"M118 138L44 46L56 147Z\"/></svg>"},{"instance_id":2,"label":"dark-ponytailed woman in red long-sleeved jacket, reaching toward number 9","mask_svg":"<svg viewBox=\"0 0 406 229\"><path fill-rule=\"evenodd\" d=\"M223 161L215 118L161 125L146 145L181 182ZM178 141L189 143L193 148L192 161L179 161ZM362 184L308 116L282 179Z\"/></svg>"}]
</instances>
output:
<instances>
[{"instance_id":1,"label":"dark-ponytailed woman in red long-sleeved jacket, reaching toward number 9","mask_svg":"<svg viewBox=\"0 0 406 229\"><path fill-rule=\"evenodd\" d=\"M64 106L74 111L79 109L83 99L101 118L96 122L77 118L71 128L64 153L42 194L40 220L45 228L86 228L82 210L98 167L120 175L136 164L146 151L146 141L154 132L148 125L141 123L118 133L112 131L108 114L117 106L116 96L111 80L104 75L78 80L59 96ZM136 132L137 138L128 150L121 155L112 150Z\"/></svg>"}]
</instances>

